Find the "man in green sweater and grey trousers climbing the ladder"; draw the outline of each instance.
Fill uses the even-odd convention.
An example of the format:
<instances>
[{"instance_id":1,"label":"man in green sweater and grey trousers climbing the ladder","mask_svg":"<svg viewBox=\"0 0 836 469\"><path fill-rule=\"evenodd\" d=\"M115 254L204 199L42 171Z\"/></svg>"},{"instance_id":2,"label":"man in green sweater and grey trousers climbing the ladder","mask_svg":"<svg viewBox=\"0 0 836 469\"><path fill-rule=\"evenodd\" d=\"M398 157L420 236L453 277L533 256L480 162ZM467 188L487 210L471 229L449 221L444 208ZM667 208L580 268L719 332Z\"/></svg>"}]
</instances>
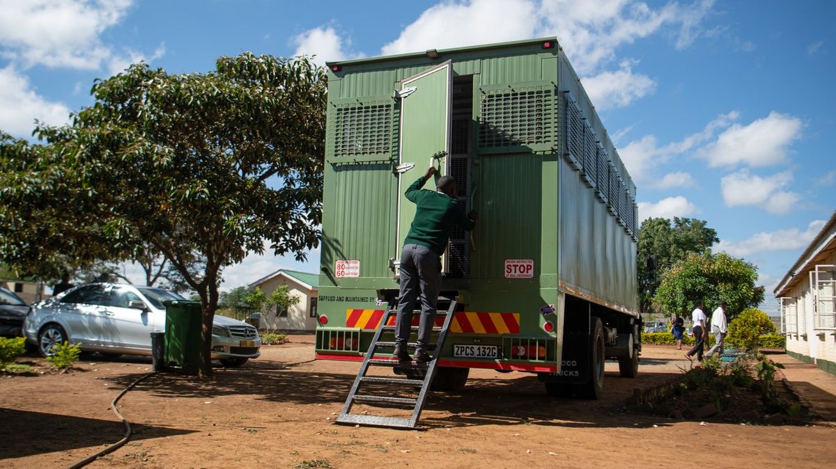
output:
<instances>
[{"instance_id":1,"label":"man in green sweater and grey trousers climbing the ladder","mask_svg":"<svg viewBox=\"0 0 836 469\"><path fill-rule=\"evenodd\" d=\"M438 189L435 192L421 189L436 173L436 168L431 166L405 192L406 198L415 203L417 209L400 255L400 294L393 353L399 361L412 360L406 351L406 343L410 337L412 311L419 298L421 321L418 325L415 361L431 360L427 345L435 324L436 302L441 291L441 255L446 250L453 225L471 230L479 219L476 211L465 214L465 210L456 202L456 179L451 176L438 179Z\"/></svg>"}]
</instances>

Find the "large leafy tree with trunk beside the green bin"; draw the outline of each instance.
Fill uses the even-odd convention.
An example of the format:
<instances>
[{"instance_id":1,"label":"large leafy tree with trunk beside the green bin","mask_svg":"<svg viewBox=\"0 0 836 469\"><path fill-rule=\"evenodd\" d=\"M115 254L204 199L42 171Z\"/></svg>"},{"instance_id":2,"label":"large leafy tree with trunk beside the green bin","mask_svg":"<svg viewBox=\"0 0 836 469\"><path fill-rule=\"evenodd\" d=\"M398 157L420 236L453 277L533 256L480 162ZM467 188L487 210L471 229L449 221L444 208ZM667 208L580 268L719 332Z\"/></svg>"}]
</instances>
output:
<instances>
[{"instance_id":1,"label":"large leafy tree with trunk beside the green bin","mask_svg":"<svg viewBox=\"0 0 836 469\"><path fill-rule=\"evenodd\" d=\"M33 195L33 208L59 199L42 226L0 198L0 222L16 223L9 261L37 266L42 244L79 259L126 259L148 243L200 296L200 371L210 375L222 269L262 253L265 240L298 260L319 244L325 80L308 58L244 53L219 58L211 73L136 64L97 81L95 103L72 124L38 129L47 145L10 143L31 154L9 171L12 199ZM68 225L77 229L62 231Z\"/></svg>"}]
</instances>

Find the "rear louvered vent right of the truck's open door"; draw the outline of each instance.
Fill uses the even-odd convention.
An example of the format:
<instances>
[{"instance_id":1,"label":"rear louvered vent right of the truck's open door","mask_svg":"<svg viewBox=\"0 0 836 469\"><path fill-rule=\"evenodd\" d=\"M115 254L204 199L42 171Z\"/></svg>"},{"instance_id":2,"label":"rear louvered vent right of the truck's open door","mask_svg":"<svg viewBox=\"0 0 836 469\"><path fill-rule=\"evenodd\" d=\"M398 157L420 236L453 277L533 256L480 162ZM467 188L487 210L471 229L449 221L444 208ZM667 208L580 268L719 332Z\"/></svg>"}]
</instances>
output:
<instances>
[{"instance_id":1,"label":"rear louvered vent right of the truck's open door","mask_svg":"<svg viewBox=\"0 0 836 469\"><path fill-rule=\"evenodd\" d=\"M479 149L554 144L555 93L549 86L482 90Z\"/></svg>"}]
</instances>

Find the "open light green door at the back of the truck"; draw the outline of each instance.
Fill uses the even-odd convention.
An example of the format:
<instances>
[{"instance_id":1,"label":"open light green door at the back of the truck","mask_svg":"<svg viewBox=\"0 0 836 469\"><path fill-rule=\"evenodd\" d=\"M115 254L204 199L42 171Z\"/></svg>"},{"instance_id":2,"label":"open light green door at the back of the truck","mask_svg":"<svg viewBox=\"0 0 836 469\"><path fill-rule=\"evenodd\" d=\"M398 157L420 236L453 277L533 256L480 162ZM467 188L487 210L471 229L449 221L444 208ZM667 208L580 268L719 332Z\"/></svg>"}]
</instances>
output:
<instances>
[{"instance_id":1,"label":"open light green door at the back of the truck","mask_svg":"<svg viewBox=\"0 0 836 469\"><path fill-rule=\"evenodd\" d=\"M414 164L412 169L398 172L398 228L395 259L400 260L410 224L415 217L415 204L404 191L421 177L430 165L441 177L447 172L447 158L436 155L450 153L452 63L448 60L400 83L400 149L399 167ZM435 190L436 178L427 181L424 189Z\"/></svg>"}]
</instances>

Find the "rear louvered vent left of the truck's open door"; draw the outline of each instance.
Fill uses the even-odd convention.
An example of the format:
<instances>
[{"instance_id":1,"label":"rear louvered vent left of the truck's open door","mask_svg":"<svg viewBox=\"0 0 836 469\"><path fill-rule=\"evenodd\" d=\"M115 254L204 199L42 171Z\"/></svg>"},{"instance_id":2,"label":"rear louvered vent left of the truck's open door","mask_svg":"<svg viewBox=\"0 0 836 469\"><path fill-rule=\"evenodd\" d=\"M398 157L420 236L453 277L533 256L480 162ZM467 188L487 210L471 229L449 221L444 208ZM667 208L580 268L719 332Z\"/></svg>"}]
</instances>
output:
<instances>
[{"instance_id":1,"label":"rear louvered vent left of the truck's open door","mask_svg":"<svg viewBox=\"0 0 836 469\"><path fill-rule=\"evenodd\" d=\"M390 156L392 103L351 103L336 108L334 156Z\"/></svg>"}]
</instances>

